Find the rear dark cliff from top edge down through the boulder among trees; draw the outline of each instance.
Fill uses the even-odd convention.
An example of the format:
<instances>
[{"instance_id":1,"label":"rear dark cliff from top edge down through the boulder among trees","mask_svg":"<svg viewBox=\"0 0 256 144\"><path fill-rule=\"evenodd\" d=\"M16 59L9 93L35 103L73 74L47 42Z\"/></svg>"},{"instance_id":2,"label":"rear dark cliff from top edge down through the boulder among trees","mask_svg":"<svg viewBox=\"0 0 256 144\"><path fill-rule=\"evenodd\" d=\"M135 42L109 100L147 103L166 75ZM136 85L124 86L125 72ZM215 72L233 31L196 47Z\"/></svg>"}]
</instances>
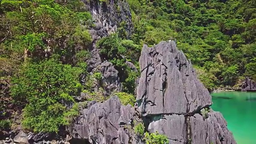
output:
<instances>
[{"instance_id":1,"label":"rear dark cliff from top edge down through the boulder among trees","mask_svg":"<svg viewBox=\"0 0 256 144\"><path fill-rule=\"evenodd\" d=\"M107 91L120 90L121 82L119 82L118 71L110 62L105 62L100 57L96 42L104 36L116 33L119 24L125 24L124 29L127 39L132 34L132 18L129 4L123 0L82 0L86 4L86 9L92 14L94 27L89 32L92 37L92 45L90 47L90 58L86 60L88 64L88 72L100 71L104 75ZM103 63L104 62L104 63ZM110 66L111 65L111 66ZM108 69L106 69L108 67ZM103 71L102 71L103 70ZM108 72L108 73L106 73Z\"/></svg>"}]
</instances>

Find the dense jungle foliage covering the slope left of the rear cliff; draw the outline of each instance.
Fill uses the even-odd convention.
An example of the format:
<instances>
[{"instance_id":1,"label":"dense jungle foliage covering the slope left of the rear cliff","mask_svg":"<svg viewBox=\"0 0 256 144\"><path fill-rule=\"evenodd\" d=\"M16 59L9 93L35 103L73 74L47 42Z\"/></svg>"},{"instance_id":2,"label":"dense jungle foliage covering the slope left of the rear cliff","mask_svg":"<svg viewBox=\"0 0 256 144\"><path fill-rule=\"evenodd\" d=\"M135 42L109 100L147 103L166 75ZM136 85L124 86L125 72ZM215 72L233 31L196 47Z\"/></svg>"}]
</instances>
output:
<instances>
[{"instance_id":1,"label":"dense jungle foliage covering the slope left of the rear cliff","mask_svg":"<svg viewBox=\"0 0 256 144\"><path fill-rule=\"evenodd\" d=\"M24 108L24 128L58 132L78 115L73 96L84 88L79 78L86 74L83 55L91 38L85 26L92 24L91 14L80 0L0 4L0 78L10 84L7 92L1 88L0 129L10 128L6 118Z\"/></svg>"}]
</instances>

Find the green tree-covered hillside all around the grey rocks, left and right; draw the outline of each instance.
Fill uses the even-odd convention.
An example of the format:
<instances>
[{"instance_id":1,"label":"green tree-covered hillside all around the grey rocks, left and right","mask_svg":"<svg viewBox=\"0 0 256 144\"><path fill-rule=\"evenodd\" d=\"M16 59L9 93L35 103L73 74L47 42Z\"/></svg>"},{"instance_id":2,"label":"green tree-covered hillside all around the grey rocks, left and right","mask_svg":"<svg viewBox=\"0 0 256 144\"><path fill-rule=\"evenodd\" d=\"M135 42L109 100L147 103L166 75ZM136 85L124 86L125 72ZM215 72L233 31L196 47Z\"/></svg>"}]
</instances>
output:
<instances>
[{"instance_id":1,"label":"green tree-covered hillside all around the grey rocks, left and right","mask_svg":"<svg viewBox=\"0 0 256 144\"><path fill-rule=\"evenodd\" d=\"M162 40L176 41L208 90L238 86L245 76L256 80L255 0L128 3L131 34L120 22L95 44L118 71L122 90L115 94L123 104L135 102L143 44ZM98 27L80 0L0 0L0 130L15 128L12 119L22 114L26 130L58 132L78 116L74 97L81 92L86 101L113 95L102 73L88 68L94 42L89 30Z\"/></svg>"}]
</instances>

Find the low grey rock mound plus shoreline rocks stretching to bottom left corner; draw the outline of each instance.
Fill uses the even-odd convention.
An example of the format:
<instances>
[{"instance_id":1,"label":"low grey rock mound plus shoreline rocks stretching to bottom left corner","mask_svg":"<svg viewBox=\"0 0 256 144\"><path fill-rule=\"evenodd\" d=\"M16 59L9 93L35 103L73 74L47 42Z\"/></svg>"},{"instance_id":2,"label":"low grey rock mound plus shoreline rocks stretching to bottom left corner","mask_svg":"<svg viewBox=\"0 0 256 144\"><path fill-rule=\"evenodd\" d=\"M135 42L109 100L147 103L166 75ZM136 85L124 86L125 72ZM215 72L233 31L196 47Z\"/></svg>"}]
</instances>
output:
<instances>
[{"instance_id":1,"label":"low grey rock mound plus shoreline rocks stretching to bottom left corner","mask_svg":"<svg viewBox=\"0 0 256 144\"><path fill-rule=\"evenodd\" d=\"M91 101L83 107L62 136L20 130L14 138L0 139L0 144L141 144L132 129L136 110L130 104L123 106L118 96L105 102Z\"/></svg>"}]
</instances>

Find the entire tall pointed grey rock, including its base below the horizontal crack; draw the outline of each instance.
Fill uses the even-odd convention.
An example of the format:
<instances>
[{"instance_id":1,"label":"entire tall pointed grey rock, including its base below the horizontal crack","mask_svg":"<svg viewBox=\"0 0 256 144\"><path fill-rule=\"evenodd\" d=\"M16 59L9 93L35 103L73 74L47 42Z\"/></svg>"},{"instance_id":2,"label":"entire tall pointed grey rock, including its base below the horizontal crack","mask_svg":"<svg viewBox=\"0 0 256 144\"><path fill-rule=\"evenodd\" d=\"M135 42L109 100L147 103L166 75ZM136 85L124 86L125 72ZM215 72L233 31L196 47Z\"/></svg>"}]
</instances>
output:
<instances>
[{"instance_id":1,"label":"entire tall pointed grey rock, including its base below the horizontal crack","mask_svg":"<svg viewBox=\"0 0 256 144\"><path fill-rule=\"evenodd\" d=\"M211 96L174 41L144 45L137 102L149 132L165 134L175 144L236 144L219 112L202 115Z\"/></svg>"}]
</instances>

